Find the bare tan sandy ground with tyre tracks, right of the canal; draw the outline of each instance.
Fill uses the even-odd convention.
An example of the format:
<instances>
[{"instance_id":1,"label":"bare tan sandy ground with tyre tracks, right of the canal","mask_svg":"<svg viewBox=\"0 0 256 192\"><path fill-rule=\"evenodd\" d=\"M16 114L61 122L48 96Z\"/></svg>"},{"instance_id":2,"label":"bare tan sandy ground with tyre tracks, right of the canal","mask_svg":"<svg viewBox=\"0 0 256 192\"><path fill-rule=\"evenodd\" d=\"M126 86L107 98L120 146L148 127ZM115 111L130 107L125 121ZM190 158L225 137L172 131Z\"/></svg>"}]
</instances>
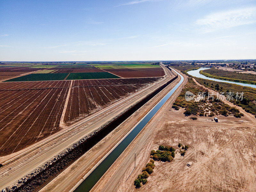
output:
<instances>
[{"instance_id":1,"label":"bare tan sandy ground with tyre tracks, right of the canal","mask_svg":"<svg viewBox=\"0 0 256 192\"><path fill-rule=\"evenodd\" d=\"M193 121L184 116L184 109L175 111L171 107L172 99L157 112L92 191L255 191L255 117L219 116L216 123L213 117L198 116ZM133 181L148 163L150 151L159 145L178 149L178 143L189 145L185 156L180 156L177 150L171 163L156 162L148 183L136 189Z\"/></svg>"}]
</instances>

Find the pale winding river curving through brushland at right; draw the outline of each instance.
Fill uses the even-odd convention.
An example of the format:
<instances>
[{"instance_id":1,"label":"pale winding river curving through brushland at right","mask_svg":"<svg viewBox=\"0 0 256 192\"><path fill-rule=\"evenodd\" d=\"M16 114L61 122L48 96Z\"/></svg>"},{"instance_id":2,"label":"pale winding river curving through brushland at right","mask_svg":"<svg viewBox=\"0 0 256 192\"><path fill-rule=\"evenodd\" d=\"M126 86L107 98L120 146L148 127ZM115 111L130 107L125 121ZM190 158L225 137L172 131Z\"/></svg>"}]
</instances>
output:
<instances>
[{"instance_id":1,"label":"pale winding river curving through brushland at right","mask_svg":"<svg viewBox=\"0 0 256 192\"><path fill-rule=\"evenodd\" d=\"M208 79L208 80L212 80L212 81L218 81L218 82L224 82L224 83L232 83L232 84L237 84L237 85L242 85L242 86L256 88L256 85L254 85L254 84L240 83L240 82L227 81L227 80L221 80L221 79L214 79L214 78L206 77L206 76L204 76L204 75L199 73L199 71L204 70L204 69L210 69L210 68L199 68L197 70L188 71L187 73L189 75L192 75L194 77L199 77L199 78L202 78L202 79Z\"/></svg>"}]
</instances>

